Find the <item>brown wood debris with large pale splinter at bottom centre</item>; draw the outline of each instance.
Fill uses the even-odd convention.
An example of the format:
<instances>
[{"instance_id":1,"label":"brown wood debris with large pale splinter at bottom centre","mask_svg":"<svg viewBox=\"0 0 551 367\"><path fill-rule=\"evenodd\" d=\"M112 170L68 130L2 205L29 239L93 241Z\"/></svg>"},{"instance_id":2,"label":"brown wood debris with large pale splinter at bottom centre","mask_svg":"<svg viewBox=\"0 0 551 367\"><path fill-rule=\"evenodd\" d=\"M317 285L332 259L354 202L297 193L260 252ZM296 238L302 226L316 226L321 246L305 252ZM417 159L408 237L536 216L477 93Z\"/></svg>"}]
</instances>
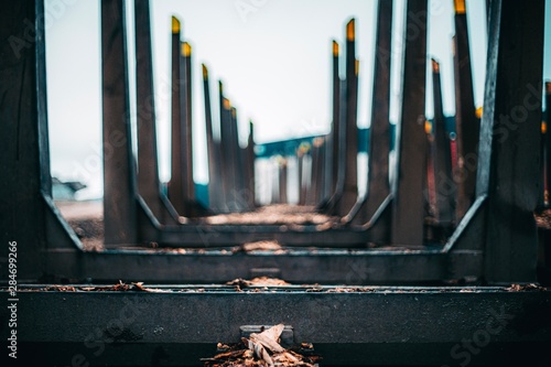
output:
<instances>
[{"instance_id":1,"label":"brown wood debris with large pale splinter at bottom centre","mask_svg":"<svg viewBox=\"0 0 551 367\"><path fill-rule=\"evenodd\" d=\"M242 337L240 343L234 345L218 343L220 353L201 360L205 363L205 367L316 367L321 358L312 355L312 344L302 343L289 349L279 344L283 328L283 324L278 324L262 333L252 333L249 338ZM301 354L301 350L305 353Z\"/></svg>"}]
</instances>

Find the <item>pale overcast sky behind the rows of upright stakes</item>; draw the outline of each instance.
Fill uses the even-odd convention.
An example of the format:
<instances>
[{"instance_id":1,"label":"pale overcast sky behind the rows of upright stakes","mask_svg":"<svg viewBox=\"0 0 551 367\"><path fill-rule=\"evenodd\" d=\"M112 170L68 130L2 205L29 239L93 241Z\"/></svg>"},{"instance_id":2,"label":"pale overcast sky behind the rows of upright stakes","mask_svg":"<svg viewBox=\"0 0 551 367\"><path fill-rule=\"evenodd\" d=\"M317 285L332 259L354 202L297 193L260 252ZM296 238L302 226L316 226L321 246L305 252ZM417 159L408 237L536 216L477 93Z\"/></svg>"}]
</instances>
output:
<instances>
[{"instance_id":1,"label":"pale overcast sky behind the rows of upright stakes","mask_svg":"<svg viewBox=\"0 0 551 367\"><path fill-rule=\"evenodd\" d=\"M45 0L46 67L52 173L101 193L101 101L99 1ZM160 170L170 177L171 17L182 21L183 40L193 47L193 123L195 181L208 180L205 155L201 64L210 72L213 114L217 117L217 80L238 109L241 139L248 120L257 143L326 133L331 123L331 42L343 46L344 26L356 19L360 61L358 126L369 125L375 0L154 0L151 1ZM451 40L453 0L429 1L431 57L441 63L444 112L454 115ZM485 1L467 0L475 99L482 105L486 62ZM129 75L133 69L133 1L127 1ZM551 7L547 19L551 19ZM403 44L404 0L395 1L395 50ZM551 34L550 22L545 34ZM544 77L551 78L550 37L545 40ZM342 47L342 51L344 47ZM399 116L401 53L392 56L391 120ZM397 61L397 62L395 62ZM429 64L430 65L430 64ZM342 71L344 73L344 71ZM343 74L344 75L344 74ZM430 76L430 73L428 73ZM430 79L429 79L430 80ZM431 95L428 84L428 95ZM136 106L131 95L132 106ZM426 115L432 116L428 99ZM216 120L215 120L216 121Z\"/></svg>"}]
</instances>

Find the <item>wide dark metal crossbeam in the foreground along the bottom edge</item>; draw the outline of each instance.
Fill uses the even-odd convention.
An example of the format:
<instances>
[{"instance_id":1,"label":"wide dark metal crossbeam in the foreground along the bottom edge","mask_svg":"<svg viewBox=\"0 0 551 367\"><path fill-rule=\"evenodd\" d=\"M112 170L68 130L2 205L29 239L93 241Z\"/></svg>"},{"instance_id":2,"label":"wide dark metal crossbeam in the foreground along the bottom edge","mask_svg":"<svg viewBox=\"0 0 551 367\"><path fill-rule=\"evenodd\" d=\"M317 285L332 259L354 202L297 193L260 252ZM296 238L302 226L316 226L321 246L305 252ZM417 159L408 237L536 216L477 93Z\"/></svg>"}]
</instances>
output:
<instances>
[{"instance_id":1,"label":"wide dark metal crossbeam in the foreground along the bottom edge","mask_svg":"<svg viewBox=\"0 0 551 367\"><path fill-rule=\"evenodd\" d=\"M294 343L313 343L324 366L542 366L549 358L549 291L155 288L153 292L24 288L21 304L28 306L19 310L19 316L35 322L18 328L18 361L198 366L199 358L216 354L217 343L240 341L241 325L280 322L292 326ZM78 312L58 317L61 309ZM218 311L204 312L209 309ZM3 314L8 316L7 311ZM195 316L182 320L183 314Z\"/></svg>"}]
</instances>

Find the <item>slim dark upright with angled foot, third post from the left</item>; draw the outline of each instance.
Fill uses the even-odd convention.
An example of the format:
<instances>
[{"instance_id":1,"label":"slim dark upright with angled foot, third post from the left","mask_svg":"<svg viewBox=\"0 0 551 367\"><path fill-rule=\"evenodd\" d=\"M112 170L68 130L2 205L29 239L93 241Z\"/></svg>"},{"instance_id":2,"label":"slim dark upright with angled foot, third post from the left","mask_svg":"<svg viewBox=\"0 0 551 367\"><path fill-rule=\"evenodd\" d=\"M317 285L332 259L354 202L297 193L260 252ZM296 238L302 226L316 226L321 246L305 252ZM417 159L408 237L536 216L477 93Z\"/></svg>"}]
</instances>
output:
<instances>
[{"instance_id":1,"label":"slim dark upright with angled foot, third post from the left","mask_svg":"<svg viewBox=\"0 0 551 367\"><path fill-rule=\"evenodd\" d=\"M177 213L161 191L151 50L149 0L134 2L138 192L161 223L176 223Z\"/></svg>"}]
</instances>

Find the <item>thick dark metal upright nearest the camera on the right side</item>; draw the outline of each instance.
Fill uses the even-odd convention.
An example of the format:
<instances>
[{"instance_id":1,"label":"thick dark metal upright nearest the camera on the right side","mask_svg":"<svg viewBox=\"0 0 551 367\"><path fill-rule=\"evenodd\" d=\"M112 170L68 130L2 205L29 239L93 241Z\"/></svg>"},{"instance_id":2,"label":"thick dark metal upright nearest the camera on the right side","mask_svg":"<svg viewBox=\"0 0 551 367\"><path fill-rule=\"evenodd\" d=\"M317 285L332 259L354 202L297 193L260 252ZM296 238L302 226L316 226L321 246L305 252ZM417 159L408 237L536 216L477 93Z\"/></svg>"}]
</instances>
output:
<instances>
[{"instance_id":1,"label":"thick dark metal upright nearest the camera on the right side","mask_svg":"<svg viewBox=\"0 0 551 367\"><path fill-rule=\"evenodd\" d=\"M536 280L544 1L491 1L477 194L487 195L485 278Z\"/></svg>"}]
</instances>

